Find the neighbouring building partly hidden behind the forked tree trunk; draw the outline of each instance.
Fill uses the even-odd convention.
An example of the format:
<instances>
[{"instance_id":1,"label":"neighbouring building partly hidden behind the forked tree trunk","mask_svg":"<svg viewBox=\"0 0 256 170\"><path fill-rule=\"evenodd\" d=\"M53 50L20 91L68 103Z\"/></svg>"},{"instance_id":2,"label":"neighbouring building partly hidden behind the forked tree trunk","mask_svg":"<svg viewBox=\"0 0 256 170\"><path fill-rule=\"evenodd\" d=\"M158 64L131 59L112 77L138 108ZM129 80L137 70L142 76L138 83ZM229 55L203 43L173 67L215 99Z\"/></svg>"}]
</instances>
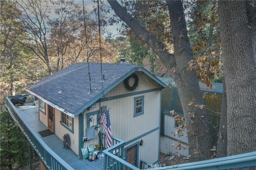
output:
<instances>
[{"instance_id":1,"label":"neighbouring building partly hidden behind the forked tree trunk","mask_svg":"<svg viewBox=\"0 0 256 170\"><path fill-rule=\"evenodd\" d=\"M183 136L179 137L175 132L179 127L179 121L174 117L180 115L183 117L182 107L179 99L178 89L171 78L158 78L166 85L171 83L171 87L162 90L162 115L161 115L161 152L169 155L188 157L188 139L186 130ZM217 143L218 130L221 112L222 83L212 83L213 87L208 88L202 82L199 82L202 95L205 101L205 111L210 124L210 130L213 135L213 142ZM171 114L171 111L175 111ZM181 147L177 146L179 143Z\"/></svg>"}]
</instances>

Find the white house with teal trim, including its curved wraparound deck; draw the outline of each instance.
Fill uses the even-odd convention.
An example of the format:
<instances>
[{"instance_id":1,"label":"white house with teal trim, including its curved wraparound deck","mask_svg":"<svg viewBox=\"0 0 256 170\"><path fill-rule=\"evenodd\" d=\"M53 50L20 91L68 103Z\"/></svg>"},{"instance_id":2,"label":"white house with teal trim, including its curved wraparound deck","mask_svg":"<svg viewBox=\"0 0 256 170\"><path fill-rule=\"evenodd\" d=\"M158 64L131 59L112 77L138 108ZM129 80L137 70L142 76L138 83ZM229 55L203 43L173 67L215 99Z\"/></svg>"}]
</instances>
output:
<instances>
[{"instance_id":1,"label":"white house with teal trim, including its curved wraparound deck","mask_svg":"<svg viewBox=\"0 0 256 170\"><path fill-rule=\"evenodd\" d=\"M135 169L158 162L166 85L141 66L105 63L102 74L100 68L99 63L70 65L29 86L27 103L19 107L11 102L15 96L6 97L11 116L40 158L40 169L109 169L117 163ZM104 160L82 160L81 149L90 143L107 148L100 124L106 110L113 147L103 150ZM70 149L63 148L65 134Z\"/></svg>"}]
</instances>

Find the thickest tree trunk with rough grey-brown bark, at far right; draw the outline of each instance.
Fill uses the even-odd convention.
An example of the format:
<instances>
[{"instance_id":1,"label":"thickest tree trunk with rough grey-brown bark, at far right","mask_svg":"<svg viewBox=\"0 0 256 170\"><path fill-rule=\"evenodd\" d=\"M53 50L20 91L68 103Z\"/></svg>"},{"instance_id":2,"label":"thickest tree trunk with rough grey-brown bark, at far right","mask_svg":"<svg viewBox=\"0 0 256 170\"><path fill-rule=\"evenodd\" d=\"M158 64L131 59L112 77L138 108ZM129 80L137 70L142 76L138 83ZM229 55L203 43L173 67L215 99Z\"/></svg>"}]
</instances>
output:
<instances>
[{"instance_id":1,"label":"thickest tree trunk with rough grey-brown bark, at far right","mask_svg":"<svg viewBox=\"0 0 256 170\"><path fill-rule=\"evenodd\" d=\"M228 156L256 150L256 71L246 3L219 1Z\"/></svg>"}]
</instances>

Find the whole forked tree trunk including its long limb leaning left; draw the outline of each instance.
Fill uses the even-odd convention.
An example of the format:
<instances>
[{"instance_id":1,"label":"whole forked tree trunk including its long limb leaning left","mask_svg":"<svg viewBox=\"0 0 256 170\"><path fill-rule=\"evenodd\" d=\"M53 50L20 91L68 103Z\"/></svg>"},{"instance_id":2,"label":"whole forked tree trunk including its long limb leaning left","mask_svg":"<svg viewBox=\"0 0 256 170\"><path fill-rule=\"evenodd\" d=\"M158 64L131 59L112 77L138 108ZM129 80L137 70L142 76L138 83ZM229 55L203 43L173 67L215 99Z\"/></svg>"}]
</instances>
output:
<instances>
[{"instance_id":1,"label":"whole forked tree trunk including its long limb leaning left","mask_svg":"<svg viewBox=\"0 0 256 170\"><path fill-rule=\"evenodd\" d=\"M209 126L204 109L199 109L198 105L203 104L201 90L195 71L188 71L188 62L193 59L190 44L187 36L187 28L183 13L182 3L169 2L170 18L172 22L172 31L174 37L174 56L167 52L164 45L138 21L134 20L126 10L118 4L117 1L108 3L115 13L121 18L133 31L154 50L166 68L172 72L172 76L177 83L180 101L185 114L185 120L188 130L189 155L190 161L209 159L211 156L212 141L209 134ZM175 9L177 8L177 9ZM194 105L189 106L188 103L193 101ZM195 106L197 105L197 106Z\"/></svg>"}]
</instances>

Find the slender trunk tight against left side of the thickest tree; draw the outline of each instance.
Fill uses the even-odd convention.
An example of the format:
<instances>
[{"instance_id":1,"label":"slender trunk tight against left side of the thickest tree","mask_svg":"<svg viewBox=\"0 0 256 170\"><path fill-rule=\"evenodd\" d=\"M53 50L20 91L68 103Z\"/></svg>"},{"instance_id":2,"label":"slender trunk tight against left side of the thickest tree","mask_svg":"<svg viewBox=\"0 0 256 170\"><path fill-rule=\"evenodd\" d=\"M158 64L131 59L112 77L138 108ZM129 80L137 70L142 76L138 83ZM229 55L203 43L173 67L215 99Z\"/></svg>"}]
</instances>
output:
<instances>
[{"instance_id":1,"label":"slender trunk tight against left side of the thickest tree","mask_svg":"<svg viewBox=\"0 0 256 170\"><path fill-rule=\"evenodd\" d=\"M225 80L223 82L220 127L217 145L217 157L227 156L227 94Z\"/></svg>"}]
</instances>

